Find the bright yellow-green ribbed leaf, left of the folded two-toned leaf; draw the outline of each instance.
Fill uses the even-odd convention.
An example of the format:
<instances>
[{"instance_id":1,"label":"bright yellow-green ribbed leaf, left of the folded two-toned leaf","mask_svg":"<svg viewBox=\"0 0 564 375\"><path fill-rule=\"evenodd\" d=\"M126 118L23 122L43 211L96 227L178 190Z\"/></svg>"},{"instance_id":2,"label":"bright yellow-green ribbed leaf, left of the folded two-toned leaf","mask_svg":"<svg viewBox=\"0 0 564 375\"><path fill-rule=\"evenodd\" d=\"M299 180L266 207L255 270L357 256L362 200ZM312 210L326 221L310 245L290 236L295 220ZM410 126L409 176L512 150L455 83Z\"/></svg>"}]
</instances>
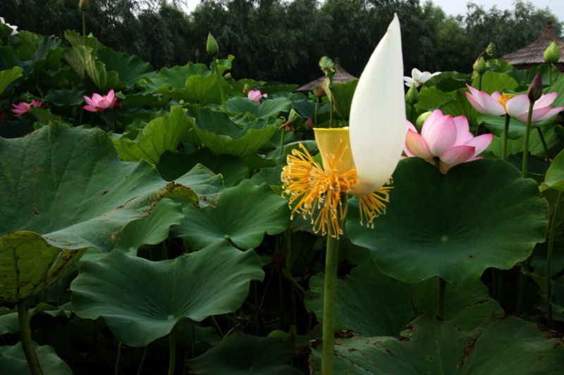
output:
<instances>
[{"instance_id":1,"label":"bright yellow-green ribbed leaf, left of the folded two-toned leaf","mask_svg":"<svg viewBox=\"0 0 564 375\"><path fill-rule=\"evenodd\" d=\"M194 119L186 116L186 110L180 106L171 108L168 117L157 117L141 130L135 141L127 138L112 139L118 155L123 161L147 160L153 165L159 164L164 151L174 151Z\"/></svg>"}]
</instances>

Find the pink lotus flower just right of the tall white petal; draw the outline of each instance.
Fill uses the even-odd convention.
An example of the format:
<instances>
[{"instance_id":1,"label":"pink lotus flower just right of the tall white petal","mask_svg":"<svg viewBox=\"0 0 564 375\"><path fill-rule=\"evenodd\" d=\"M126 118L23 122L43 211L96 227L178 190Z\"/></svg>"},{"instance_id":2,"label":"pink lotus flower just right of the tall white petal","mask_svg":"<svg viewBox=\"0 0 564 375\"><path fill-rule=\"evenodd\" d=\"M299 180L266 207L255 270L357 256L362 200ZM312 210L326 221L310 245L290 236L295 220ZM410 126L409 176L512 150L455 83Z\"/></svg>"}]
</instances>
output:
<instances>
[{"instance_id":1,"label":"pink lotus flower just right of the tall white petal","mask_svg":"<svg viewBox=\"0 0 564 375\"><path fill-rule=\"evenodd\" d=\"M403 151L408 157L423 158L433 165L439 158L439 169L446 173L454 165L481 159L477 155L489 146L493 138L494 134L472 136L465 116L453 118L443 115L441 110L434 110L423 123L421 135L407 121Z\"/></svg>"}]
</instances>

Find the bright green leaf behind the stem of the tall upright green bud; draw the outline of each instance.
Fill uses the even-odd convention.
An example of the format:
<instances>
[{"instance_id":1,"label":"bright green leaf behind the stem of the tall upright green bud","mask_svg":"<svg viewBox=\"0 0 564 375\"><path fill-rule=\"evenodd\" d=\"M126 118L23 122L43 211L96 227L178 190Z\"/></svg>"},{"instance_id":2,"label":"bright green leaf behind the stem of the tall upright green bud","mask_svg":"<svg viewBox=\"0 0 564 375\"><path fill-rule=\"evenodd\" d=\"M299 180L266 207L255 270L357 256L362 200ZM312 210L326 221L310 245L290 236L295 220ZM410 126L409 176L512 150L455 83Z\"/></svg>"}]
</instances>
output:
<instances>
[{"instance_id":1,"label":"bright green leaf behind the stem of the tall upright green bud","mask_svg":"<svg viewBox=\"0 0 564 375\"><path fill-rule=\"evenodd\" d=\"M223 77L221 77L221 88L223 94L231 94L233 89ZM216 75L191 75L185 81L185 87L182 89L173 88L170 95L177 101L185 101L186 103L207 106L208 104L221 103L221 91Z\"/></svg>"}]
</instances>

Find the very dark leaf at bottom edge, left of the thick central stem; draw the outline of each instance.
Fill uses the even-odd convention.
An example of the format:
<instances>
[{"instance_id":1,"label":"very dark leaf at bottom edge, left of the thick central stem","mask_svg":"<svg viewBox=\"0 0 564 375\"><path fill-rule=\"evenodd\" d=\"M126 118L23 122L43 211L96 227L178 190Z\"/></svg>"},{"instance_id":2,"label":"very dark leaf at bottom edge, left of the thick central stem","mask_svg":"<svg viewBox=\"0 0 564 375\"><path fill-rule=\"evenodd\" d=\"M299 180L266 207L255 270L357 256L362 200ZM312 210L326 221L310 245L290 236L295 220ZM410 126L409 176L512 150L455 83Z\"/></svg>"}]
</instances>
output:
<instances>
[{"instance_id":1,"label":"very dark leaf at bottom edge, left of the thick central stem","mask_svg":"<svg viewBox=\"0 0 564 375\"><path fill-rule=\"evenodd\" d=\"M194 375L303 374L284 364L294 355L278 338L247 336L237 331L199 357L186 361L186 365Z\"/></svg>"}]
</instances>

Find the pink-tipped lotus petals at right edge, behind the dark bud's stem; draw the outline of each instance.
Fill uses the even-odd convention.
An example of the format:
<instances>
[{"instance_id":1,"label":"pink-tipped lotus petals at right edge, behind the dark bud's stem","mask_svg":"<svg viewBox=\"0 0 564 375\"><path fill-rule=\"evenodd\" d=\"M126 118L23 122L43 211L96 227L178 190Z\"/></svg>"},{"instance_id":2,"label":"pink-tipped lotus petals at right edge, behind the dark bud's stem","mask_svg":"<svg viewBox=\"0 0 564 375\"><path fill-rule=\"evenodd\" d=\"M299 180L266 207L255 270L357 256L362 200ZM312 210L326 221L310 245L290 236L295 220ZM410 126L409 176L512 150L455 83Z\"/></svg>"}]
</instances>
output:
<instances>
[{"instance_id":1,"label":"pink-tipped lotus petals at right edge, behind the dark bud's stem","mask_svg":"<svg viewBox=\"0 0 564 375\"><path fill-rule=\"evenodd\" d=\"M552 117L559 113L560 110L564 109L564 107L554 108L554 106L550 106L556 96L558 96L558 92L553 91L550 94L542 95L539 100L534 102L531 117L532 124L546 120L548 117ZM527 117L529 116L529 103L530 101L527 94L521 94L511 98L506 104L508 115L526 124Z\"/></svg>"}]
</instances>

